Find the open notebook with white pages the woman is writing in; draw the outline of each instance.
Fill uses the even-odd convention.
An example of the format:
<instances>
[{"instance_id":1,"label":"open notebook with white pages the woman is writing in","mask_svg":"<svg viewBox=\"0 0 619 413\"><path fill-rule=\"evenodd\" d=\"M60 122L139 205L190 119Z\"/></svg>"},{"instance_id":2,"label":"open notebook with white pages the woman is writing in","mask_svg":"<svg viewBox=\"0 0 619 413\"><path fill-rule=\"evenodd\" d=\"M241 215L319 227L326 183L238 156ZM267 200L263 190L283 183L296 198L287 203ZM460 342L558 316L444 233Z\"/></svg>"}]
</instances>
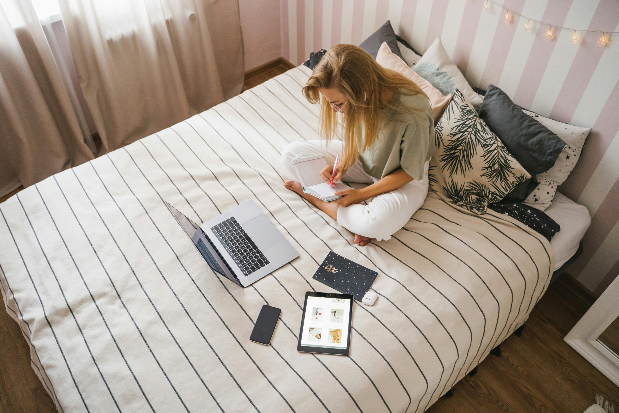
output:
<instances>
[{"instance_id":1,"label":"open notebook with white pages the woman is writing in","mask_svg":"<svg viewBox=\"0 0 619 413\"><path fill-rule=\"evenodd\" d=\"M293 158L292 166L297 171L299 181L303 186L303 192L322 199L322 201L333 201L340 198L335 195L335 191L350 189L350 186L342 182L335 183L331 188L329 184L322 180L320 172L327 166L327 161L322 155L315 155L303 158Z\"/></svg>"}]
</instances>

